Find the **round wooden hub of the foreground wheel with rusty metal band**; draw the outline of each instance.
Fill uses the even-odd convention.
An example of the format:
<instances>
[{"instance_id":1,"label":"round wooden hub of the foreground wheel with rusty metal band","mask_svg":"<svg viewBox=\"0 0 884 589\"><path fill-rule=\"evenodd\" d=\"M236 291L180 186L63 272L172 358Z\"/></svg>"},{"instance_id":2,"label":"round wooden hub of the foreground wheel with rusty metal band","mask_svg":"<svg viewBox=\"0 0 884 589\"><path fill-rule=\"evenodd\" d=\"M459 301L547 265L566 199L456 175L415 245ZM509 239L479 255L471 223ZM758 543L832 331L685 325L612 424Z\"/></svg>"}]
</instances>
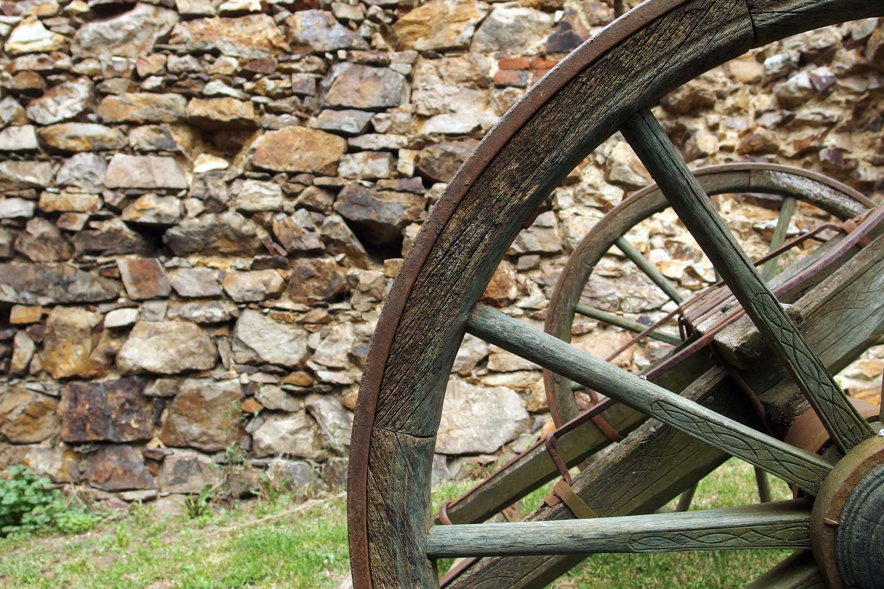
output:
<instances>
[{"instance_id":1,"label":"round wooden hub of the foreground wheel with rusty metal band","mask_svg":"<svg viewBox=\"0 0 884 589\"><path fill-rule=\"evenodd\" d=\"M811 545L833 589L884 589L884 436L850 450L823 482Z\"/></svg>"}]
</instances>

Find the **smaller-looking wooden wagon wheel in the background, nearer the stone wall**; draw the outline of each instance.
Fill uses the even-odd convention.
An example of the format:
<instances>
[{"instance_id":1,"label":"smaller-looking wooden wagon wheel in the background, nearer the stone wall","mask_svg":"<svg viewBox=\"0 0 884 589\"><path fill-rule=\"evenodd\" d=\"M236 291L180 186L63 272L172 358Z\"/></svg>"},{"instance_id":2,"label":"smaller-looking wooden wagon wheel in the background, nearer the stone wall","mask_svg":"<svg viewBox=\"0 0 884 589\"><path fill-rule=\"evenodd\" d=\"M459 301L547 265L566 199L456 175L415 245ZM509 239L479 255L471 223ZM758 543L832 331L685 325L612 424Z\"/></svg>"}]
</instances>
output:
<instances>
[{"instance_id":1,"label":"smaller-looking wooden wagon wheel in the background, nearer the stone wall","mask_svg":"<svg viewBox=\"0 0 884 589\"><path fill-rule=\"evenodd\" d=\"M817 172L793 166L760 162L728 163L700 168L694 170L693 174L709 196L724 193L767 193L782 197L780 214L769 247L769 254L772 256L785 242L789 223L798 200L821 208L841 221L847 221L874 207L872 200L850 186ZM674 284L666 276L663 276L650 261L647 261L626 237L629 230L668 207L669 203L659 187L656 184L648 185L632 194L629 199L623 200L592 227L580 244L575 247L562 269L559 281L552 293L550 306L547 309L544 329L546 333L569 342L574 317L579 314L636 334L646 334L647 337L666 344L673 346L682 344L682 338L679 336L658 329L649 331L648 326L644 324L623 318L615 313L583 305L580 302L592 273L598 267L598 262L613 245L616 245L621 253L636 265L639 272L656 284L670 301L676 305L682 304L684 297L674 287ZM761 277L765 281L770 281L773 278L776 264L776 256L764 263ZM636 341L636 338L631 341ZM616 358L618 352L623 351L627 345L624 344L620 350L614 351L608 360L612 361ZM667 381L666 388L674 392L681 392L690 383L693 376L690 370L684 372L686 374L682 374L682 383ZM575 419L579 411L572 390L575 389L574 383L545 369L544 385L556 427L561 427L565 422ZM599 422L598 425L606 428L608 432L611 431L604 421ZM620 437L619 434L615 435ZM608 435L616 439L614 436ZM756 467L755 476L758 481L758 494L761 501L770 501L766 472ZM696 485L682 495L678 510L688 509L694 490L696 490Z\"/></svg>"}]
</instances>

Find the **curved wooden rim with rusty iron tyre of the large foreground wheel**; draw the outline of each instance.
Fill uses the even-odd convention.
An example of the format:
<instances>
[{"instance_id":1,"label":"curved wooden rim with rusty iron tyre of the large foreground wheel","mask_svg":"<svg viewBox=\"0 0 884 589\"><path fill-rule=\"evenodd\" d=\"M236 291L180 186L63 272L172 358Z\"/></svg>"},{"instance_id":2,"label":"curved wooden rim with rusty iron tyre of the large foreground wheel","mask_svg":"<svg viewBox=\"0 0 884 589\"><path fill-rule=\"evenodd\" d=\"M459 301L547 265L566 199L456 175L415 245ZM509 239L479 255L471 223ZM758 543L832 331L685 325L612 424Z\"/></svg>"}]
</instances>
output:
<instances>
[{"instance_id":1,"label":"curved wooden rim with rusty iron tyre of the large foreground wheel","mask_svg":"<svg viewBox=\"0 0 884 589\"><path fill-rule=\"evenodd\" d=\"M470 310L519 226L552 187L633 113L674 87L753 46L813 27L877 16L881 7L873 4L653 0L576 49L492 129L424 223L372 340L349 468L348 533L356 587L372 586L373 577L378 586L435 583L425 532L444 381ZM640 49L649 47L656 49L651 51L654 59L644 63ZM660 59L660 54L669 58ZM626 57L632 60L617 63ZM669 65L673 58L677 69ZM594 76L612 64L619 65L622 75L606 79L603 93L602 80ZM629 65L633 69L626 72ZM639 81L644 82L640 91L621 92ZM577 118L555 119L580 95L588 100L580 104L583 111ZM594 106L592 100L600 103ZM551 116L557 120L554 126ZM530 157L519 143L536 146L539 137L557 140L561 151L537 155L536 165L514 158L520 153ZM494 181L504 176L514 188L501 199L502 188L495 188ZM469 235L453 229L464 223L471 228ZM461 252L461 257L451 252ZM473 256L469 263L463 262L464 255ZM435 288L445 291L433 293ZM403 326L419 336L397 338ZM382 456L383 461L378 459Z\"/></svg>"}]
</instances>

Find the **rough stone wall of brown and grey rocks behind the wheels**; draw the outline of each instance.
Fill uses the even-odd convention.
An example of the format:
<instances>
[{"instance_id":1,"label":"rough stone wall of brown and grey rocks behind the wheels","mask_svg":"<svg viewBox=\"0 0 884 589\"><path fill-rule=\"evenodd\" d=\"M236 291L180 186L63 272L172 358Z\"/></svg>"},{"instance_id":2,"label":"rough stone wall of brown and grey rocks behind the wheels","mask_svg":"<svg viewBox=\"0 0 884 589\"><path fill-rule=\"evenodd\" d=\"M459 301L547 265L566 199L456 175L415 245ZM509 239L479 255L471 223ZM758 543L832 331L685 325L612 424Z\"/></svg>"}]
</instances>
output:
<instances>
[{"instance_id":1,"label":"rough stone wall of brown and grey rocks behind the wheels","mask_svg":"<svg viewBox=\"0 0 884 589\"><path fill-rule=\"evenodd\" d=\"M426 211L605 2L0 3L0 463L98 496L199 491L240 464L340 481L370 335ZM824 170L880 199L884 27L753 51L657 113L691 166ZM619 135L507 253L484 300L540 326L593 223L648 182ZM878 192L876 192L878 191ZM720 199L752 255L776 212ZM819 223L799 208L795 230ZM630 239L683 291L713 280L672 215ZM589 302L668 310L615 253ZM577 321L604 356L628 337ZM641 369L665 351L617 360ZM880 380L877 348L845 375ZM438 439L462 476L549 424L537 366L467 337Z\"/></svg>"}]
</instances>

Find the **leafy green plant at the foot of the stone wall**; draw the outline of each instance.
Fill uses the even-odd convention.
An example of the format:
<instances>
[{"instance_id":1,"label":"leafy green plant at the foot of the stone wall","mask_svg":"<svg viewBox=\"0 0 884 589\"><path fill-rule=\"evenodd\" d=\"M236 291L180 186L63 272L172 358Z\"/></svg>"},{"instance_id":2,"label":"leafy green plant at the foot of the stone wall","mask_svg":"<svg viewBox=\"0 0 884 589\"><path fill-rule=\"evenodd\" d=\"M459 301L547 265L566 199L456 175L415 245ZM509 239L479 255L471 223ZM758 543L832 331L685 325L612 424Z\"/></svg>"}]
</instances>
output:
<instances>
[{"instance_id":1,"label":"leafy green plant at the foot of the stone wall","mask_svg":"<svg viewBox=\"0 0 884 589\"><path fill-rule=\"evenodd\" d=\"M46 477L20 465L0 479L0 536L27 534L48 528L65 510L61 491Z\"/></svg>"}]
</instances>

